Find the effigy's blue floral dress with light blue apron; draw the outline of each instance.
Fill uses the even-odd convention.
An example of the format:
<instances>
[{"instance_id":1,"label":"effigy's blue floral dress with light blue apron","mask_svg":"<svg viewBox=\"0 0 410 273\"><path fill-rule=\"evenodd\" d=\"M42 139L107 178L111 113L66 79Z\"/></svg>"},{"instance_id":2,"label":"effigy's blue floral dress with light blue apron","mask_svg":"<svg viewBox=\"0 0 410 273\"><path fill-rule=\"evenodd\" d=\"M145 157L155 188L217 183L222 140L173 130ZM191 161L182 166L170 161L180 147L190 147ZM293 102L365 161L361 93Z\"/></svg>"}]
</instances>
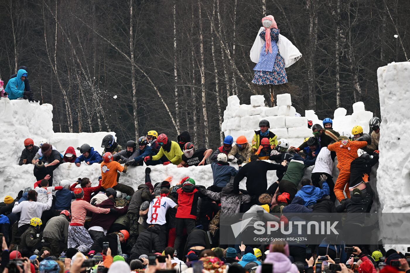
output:
<instances>
[{"instance_id":1,"label":"effigy's blue floral dress with light blue apron","mask_svg":"<svg viewBox=\"0 0 410 273\"><path fill-rule=\"evenodd\" d=\"M265 31L262 31L260 37L265 41ZM276 42L279 39L279 30L271 29L272 53L265 52L266 43L262 47L259 56L259 62L253 68L255 77L252 82L254 84L284 84L287 83L287 75L285 71L285 61L283 60ZM274 41L274 42L273 42Z\"/></svg>"}]
</instances>

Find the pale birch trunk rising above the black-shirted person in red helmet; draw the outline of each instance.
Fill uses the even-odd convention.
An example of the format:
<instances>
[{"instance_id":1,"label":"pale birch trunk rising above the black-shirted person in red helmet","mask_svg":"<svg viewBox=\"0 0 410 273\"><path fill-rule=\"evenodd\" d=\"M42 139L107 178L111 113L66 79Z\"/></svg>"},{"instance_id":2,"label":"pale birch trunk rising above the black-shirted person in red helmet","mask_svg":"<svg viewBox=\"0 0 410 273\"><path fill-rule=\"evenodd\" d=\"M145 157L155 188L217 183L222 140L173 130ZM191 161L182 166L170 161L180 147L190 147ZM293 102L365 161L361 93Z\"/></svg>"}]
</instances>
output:
<instances>
[{"instance_id":1,"label":"pale birch trunk rising above the black-shirted person in red helmet","mask_svg":"<svg viewBox=\"0 0 410 273\"><path fill-rule=\"evenodd\" d=\"M204 118L204 133L205 133L205 145L209 148L209 124L208 124L208 111L206 105L206 89L205 89L205 58L204 58L204 41L202 34L202 14L201 14L201 2L198 0L199 9L199 41L200 41L200 54L201 54L201 89L202 89L202 113Z\"/></svg>"}]
</instances>

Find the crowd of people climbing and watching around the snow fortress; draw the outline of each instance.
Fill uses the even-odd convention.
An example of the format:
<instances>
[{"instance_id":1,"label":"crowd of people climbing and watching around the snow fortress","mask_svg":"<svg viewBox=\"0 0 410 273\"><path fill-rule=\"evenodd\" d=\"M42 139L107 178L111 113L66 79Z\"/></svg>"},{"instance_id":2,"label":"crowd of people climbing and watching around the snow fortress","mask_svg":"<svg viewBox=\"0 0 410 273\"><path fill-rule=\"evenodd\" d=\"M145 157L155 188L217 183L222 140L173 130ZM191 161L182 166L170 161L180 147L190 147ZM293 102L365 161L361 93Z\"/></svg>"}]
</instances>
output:
<instances>
[{"instance_id":1,"label":"crowd of people climbing and watching around the snow fortress","mask_svg":"<svg viewBox=\"0 0 410 273\"><path fill-rule=\"evenodd\" d=\"M6 88L7 93L32 99L30 90L25 91L30 89L28 80L24 85L26 77L27 71L21 68L16 75L21 78L17 81L20 85ZM214 150L198 148L189 132L182 132L172 141L166 134L151 130L137 141L127 141L124 148L108 134L102 140L102 154L87 143L76 149L68 147L60 154L46 139L35 146L27 138L18 164L32 164L36 182L27 185L16 198L6 196L0 203L2 270L410 270L405 259L410 253L385 251L381 241L376 246L335 244L327 237L314 245L220 243L220 219L224 215L243 212L246 218L246 213L257 212L370 212L374 190L369 175L379 157L380 119L369 121L371 134L364 133L360 126L353 127L351 134L336 132L330 118L325 118L323 124L310 121L307 126L313 136L299 147L279 138L267 120L260 121L260 130L255 131L251 141L239 136L234 143L232 136L225 136ZM339 175L332 177L336 157ZM236 163L239 170L230 162ZM98 186L91 187L87 177L53 181L53 171L60 164L73 164L73 168L99 164ZM205 188L198 177L197 181L184 177L178 183L173 183L172 177L151 181L149 166L159 164L178 168L211 164L213 185ZM121 173L137 166L145 168L145 183L137 189L120 183ZM310 179L303 178L310 166L314 166ZM276 171L278 179L268 187L270 170ZM241 189L245 177L246 187ZM284 221L282 217L280 221ZM343 232L349 234L363 229L363 225L346 227Z\"/></svg>"}]
</instances>

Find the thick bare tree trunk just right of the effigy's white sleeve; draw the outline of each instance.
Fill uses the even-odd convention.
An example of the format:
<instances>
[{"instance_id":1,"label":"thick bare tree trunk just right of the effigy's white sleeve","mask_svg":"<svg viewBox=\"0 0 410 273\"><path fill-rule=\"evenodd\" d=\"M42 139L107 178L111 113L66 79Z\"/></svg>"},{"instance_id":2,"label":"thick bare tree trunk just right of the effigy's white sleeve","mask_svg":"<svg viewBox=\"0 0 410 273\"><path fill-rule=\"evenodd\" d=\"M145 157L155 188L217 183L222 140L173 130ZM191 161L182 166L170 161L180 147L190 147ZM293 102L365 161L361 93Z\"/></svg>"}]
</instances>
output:
<instances>
[{"instance_id":1,"label":"thick bare tree trunk just right of the effigy's white sleeve","mask_svg":"<svg viewBox=\"0 0 410 273\"><path fill-rule=\"evenodd\" d=\"M315 9L315 1L317 0L307 0L306 8L309 11L309 49L310 53L307 57L307 86L309 94L309 109L316 109L316 80L314 74L314 58L315 49L317 44L317 14Z\"/></svg>"}]
</instances>

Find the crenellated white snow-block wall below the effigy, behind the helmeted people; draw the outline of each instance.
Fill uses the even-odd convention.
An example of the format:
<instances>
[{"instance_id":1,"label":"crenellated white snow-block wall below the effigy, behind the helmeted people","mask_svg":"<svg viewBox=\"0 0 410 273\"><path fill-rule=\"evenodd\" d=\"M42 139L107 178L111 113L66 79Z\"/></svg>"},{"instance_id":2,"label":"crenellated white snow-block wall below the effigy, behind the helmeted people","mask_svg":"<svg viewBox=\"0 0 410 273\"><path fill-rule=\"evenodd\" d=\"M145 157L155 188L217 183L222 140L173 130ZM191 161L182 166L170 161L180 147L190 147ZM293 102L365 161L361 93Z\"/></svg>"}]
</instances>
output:
<instances>
[{"instance_id":1,"label":"crenellated white snow-block wall below the effigy, behind the helmeted people","mask_svg":"<svg viewBox=\"0 0 410 273\"><path fill-rule=\"evenodd\" d=\"M223 112L222 131L225 136L231 135L234 140L244 135L249 143L255 130L259 130L259 121L266 119L270 123L271 131L281 138L287 139L290 146L298 147L306 137L313 136L312 130L307 127L307 121L323 126L313 110L306 110L305 116L295 116L296 109L292 106L290 94L276 97L277 106L265 107L264 96L251 96L251 104L240 104L237 96L228 98L228 106ZM364 109L363 102L353 104L353 114L346 115L347 110L338 108L333 116L333 129L339 133L348 132L356 125L363 127L364 132L369 132L369 120L373 113Z\"/></svg>"}]
</instances>

